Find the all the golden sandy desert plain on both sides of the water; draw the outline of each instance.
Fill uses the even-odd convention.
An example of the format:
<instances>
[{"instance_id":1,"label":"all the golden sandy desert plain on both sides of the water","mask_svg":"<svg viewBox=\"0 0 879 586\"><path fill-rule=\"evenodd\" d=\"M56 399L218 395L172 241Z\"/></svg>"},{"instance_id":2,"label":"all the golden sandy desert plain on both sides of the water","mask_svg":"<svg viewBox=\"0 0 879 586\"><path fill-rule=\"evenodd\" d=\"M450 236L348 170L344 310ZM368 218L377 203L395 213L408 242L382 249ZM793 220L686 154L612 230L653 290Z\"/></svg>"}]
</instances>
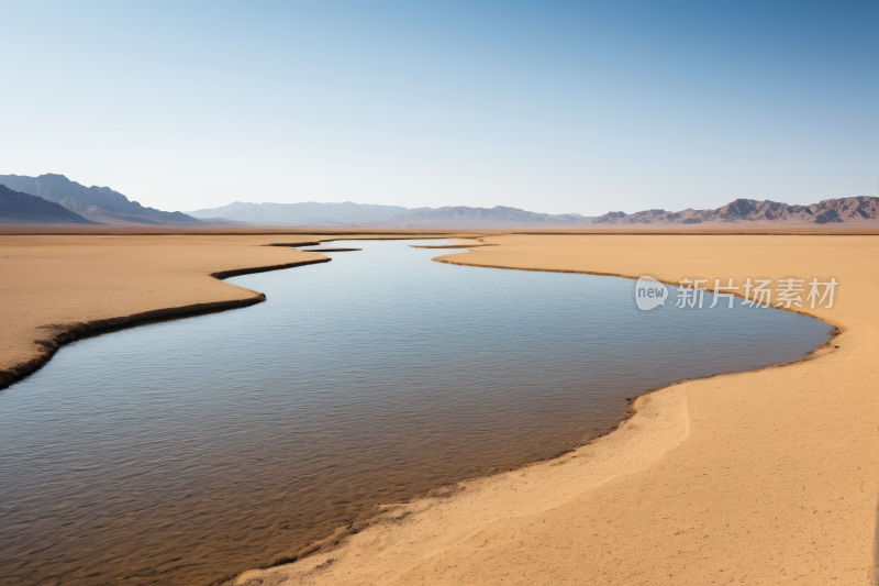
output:
<instances>
[{"instance_id":1,"label":"all the golden sandy desert plain on both sides of the water","mask_svg":"<svg viewBox=\"0 0 879 586\"><path fill-rule=\"evenodd\" d=\"M438 261L668 283L834 277L834 307L802 311L839 334L797 363L644 395L616 431L575 452L392 504L356 534L343 528L331 546L234 583L875 581L879 240L867 229L755 232L764 233L466 234L494 245ZM12 276L0 288L2 383L26 375L68 336L263 298L211 275L325 258L271 244L354 236L364 237L8 233L0 236L0 273Z\"/></svg>"}]
</instances>

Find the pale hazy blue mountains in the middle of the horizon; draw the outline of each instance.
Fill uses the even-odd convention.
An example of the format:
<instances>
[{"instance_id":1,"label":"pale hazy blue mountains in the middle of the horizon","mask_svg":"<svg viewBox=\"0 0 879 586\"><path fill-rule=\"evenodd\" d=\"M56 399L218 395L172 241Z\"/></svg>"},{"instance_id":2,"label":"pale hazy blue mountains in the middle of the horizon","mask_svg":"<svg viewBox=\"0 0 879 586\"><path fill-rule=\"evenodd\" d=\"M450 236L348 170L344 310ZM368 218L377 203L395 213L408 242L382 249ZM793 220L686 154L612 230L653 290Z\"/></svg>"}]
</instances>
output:
<instances>
[{"instance_id":1,"label":"pale hazy blue mountains in the middle of the horizon","mask_svg":"<svg viewBox=\"0 0 879 586\"><path fill-rule=\"evenodd\" d=\"M548 214L518 208L403 208L365 203L244 203L189 212L196 218L211 218L285 225L365 225L386 228L429 226L520 226L588 224L589 218L576 213Z\"/></svg>"}]
</instances>

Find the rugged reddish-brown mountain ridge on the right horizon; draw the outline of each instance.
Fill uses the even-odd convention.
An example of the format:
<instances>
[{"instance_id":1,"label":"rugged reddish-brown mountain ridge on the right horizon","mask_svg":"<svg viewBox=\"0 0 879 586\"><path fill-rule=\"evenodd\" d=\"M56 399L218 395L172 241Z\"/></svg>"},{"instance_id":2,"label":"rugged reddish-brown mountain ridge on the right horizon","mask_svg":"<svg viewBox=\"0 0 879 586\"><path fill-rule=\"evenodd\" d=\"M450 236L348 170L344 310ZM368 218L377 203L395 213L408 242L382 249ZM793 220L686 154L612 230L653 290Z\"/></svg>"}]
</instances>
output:
<instances>
[{"instance_id":1,"label":"rugged reddish-brown mountain ridge on the right horizon","mask_svg":"<svg viewBox=\"0 0 879 586\"><path fill-rule=\"evenodd\" d=\"M811 206L777 201L736 199L713 210L679 212L646 210L636 213L612 211L593 220L596 224L699 224L703 222L839 223L879 220L879 197L825 199Z\"/></svg>"}]
</instances>

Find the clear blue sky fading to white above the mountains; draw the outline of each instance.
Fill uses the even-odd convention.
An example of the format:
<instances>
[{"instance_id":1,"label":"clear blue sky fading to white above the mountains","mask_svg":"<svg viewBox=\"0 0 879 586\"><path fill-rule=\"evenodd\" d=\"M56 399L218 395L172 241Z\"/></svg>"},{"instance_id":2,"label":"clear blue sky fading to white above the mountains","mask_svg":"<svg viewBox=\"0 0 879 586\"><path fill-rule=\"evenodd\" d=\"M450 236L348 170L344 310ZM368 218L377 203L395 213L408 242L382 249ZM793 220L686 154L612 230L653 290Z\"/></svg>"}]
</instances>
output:
<instances>
[{"instance_id":1,"label":"clear blue sky fading to white above the mountains","mask_svg":"<svg viewBox=\"0 0 879 586\"><path fill-rule=\"evenodd\" d=\"M144 204L876 196L879 1L2 1L0 174Z\"/></svg>"}]
</instances>

